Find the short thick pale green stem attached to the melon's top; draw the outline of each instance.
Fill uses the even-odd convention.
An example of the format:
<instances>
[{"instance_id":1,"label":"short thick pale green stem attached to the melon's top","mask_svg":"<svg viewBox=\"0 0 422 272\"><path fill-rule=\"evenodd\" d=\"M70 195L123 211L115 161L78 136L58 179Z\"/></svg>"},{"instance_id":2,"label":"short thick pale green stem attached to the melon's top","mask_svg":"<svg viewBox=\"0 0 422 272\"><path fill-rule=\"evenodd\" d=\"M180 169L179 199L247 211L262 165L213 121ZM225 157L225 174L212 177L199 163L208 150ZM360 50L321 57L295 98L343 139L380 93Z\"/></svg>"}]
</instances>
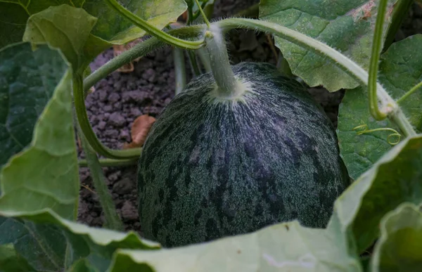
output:
<instances>
[{"instance_id":1,"label":"short thick pale green stem attached to the melon's top","mask_svg":"<svg viewBox=\"0 0 422 272\"><path fill-rule=\"evenodd\" d=\"M212 75L217 83L217 95L220 98L234 98L243 93L240 82L231 70L226 41L217 25L211 25L205 33L205 42L210 54Z\"/></svg>"}]
</instances>

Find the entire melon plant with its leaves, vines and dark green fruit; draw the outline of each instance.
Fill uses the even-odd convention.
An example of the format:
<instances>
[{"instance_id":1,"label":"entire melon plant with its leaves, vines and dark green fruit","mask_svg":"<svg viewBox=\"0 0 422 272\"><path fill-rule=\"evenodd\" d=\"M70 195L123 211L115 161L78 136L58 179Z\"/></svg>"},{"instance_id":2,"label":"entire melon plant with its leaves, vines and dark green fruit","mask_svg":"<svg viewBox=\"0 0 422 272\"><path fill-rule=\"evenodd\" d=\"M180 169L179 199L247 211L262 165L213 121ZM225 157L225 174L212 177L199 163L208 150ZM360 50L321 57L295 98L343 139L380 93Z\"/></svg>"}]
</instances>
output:
<instances>
[{"instance_id":1,"label":"entire melon plant with its leaves, vines and dark green fruit","mask_svg":"<svg viewBox=\"0 0 422 272\"><path fill-rule=\"evenodd\" d=\"M210 22L212 0L0 0L0 272L420 271L422 36L392 43L411 2L262 0L259 20ZM231 65L238 28L273 34L281 62ZM142 148L107 148L88 90L164 45L180 93ZM347 89L336 130L319 85ZM141 230L124 232L101 167L127 164ZM103 228L77 221L78 165Z\"/></svg>"}]
</instances>

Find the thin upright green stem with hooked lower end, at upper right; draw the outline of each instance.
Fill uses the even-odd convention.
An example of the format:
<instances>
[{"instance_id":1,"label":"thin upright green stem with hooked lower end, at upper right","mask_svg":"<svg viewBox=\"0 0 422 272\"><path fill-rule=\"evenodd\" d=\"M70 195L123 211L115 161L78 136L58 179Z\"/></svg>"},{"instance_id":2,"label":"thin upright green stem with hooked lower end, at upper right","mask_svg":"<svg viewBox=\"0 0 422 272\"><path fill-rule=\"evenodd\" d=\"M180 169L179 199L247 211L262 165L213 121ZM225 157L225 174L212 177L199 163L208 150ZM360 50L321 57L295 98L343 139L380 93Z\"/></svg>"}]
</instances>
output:
<instances>
[{"instance_id":1,"label":"thin upright green stem with hooked lower end, at upper right","mask_svg":"<svg viewBox=\"0 0 422 272\"><path fill-rule=\"evenodd\" d=\"M378 6L378 14L376 16L375 32L373 33L373 43L371 60L369 63L369 79L368 79L368 100L369 111L374 119L380 121L385 119L387 115L378 108L378 98L376 95L376 84L378 75L378 61L380 60L381 50L383 49L383 25L385 20L385 12L387 11L388 0L381 0Z\"/></svg>"}]
</instances>

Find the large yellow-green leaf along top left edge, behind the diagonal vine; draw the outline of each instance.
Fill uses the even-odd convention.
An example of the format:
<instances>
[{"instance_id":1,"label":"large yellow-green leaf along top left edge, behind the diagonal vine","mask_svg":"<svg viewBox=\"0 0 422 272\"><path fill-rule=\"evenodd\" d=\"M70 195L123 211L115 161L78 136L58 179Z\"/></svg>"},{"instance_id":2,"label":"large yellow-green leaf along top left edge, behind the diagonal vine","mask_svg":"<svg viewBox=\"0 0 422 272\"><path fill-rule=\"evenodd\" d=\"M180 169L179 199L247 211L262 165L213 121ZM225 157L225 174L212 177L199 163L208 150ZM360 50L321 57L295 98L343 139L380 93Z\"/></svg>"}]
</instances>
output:
<instances>
[{"instance_id":1,"label":"large yellow-green leaf along top left edge, behind the diagonal vine","mask_svg":"<svg viewBox=\"0 0 422 272\"><path fill-rule=\"evenodd\" d=\"M186 10L184 0L122 0L120 3L160 29L176 20ZM103 0L0 0L0 48L22 41L25 24L31 15L62 4L82 7L98 18L91 34L96 36L96 42L100 44L105 41L110 44L125 44L146 34L139 27L134 27L132 22L122 18ZM69 23L77 25L78 20L76 17Z\"/></svg>"}]
</instances>

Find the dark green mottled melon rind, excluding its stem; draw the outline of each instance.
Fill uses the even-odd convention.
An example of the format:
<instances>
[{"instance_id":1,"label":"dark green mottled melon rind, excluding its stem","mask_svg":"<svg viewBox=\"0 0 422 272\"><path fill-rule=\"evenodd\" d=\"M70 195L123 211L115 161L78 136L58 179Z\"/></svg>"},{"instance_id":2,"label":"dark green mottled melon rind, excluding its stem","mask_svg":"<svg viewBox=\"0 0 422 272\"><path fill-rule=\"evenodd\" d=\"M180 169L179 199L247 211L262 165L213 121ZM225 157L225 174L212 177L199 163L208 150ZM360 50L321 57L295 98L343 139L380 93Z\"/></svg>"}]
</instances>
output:
<instances>
[{"instance_id":1,"label":"dark green mottled melon rind, excluding its stem","mask_svg":"<svg viewBox=\"0 0 422 272\"><path fill-rule=\"evenodd\" d=\"M167 105L139 160L141 228L165 247L298 219L324 227L348 185L335 131L303 86L267 63L233 66L243 101L205 74Z\"/></svg>"}]
</instances>

